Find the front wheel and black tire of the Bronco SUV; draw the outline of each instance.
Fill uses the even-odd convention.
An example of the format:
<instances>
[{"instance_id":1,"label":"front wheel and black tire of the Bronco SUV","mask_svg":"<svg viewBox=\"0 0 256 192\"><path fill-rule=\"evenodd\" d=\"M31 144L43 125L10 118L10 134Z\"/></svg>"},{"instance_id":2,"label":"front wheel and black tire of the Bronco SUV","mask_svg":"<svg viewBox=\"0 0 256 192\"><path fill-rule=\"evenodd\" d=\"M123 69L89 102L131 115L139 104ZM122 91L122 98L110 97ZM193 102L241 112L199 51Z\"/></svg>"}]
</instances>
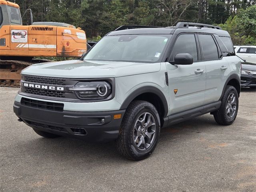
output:
<instances>
[{"instance_id":1,"label":"front wheel and black tire of the Bronco SUV","mask_svg":"<svg viewBox=\"0 0 256 192\"><path fill-rule=\"evenodd\" d=\"M146 101L132 101L122 120L116 148L128 159L143 160L156 148L160 118L155 106Z\"/></svg>"}]
</instances>

